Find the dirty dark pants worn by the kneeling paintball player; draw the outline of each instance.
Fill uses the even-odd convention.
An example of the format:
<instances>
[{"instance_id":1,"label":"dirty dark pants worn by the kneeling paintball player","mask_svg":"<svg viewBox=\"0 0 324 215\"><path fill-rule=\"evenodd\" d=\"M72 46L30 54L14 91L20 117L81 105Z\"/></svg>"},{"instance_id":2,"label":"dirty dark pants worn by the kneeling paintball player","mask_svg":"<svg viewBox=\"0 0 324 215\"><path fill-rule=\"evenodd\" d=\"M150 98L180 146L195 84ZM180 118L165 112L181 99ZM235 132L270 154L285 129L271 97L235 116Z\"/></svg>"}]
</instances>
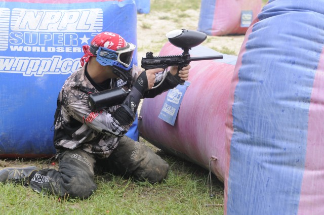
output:
<instances>
[{"instance_id":1,"label":"dirty dark pants worn by the kneeling paintball player","mask_svg":"<svg viewBox=\"0 0 324 215\"><path fill-rule=\"evenodd\" d=\"M151 149L125 136L107 159L96 159L94 154L80 149L63 151L59 170L39 170L29 185L37 192L88 198L97 188L94 175L98 167L150 183L162 182L169 170L168 163Z\"/></svg>"}]
</instances>

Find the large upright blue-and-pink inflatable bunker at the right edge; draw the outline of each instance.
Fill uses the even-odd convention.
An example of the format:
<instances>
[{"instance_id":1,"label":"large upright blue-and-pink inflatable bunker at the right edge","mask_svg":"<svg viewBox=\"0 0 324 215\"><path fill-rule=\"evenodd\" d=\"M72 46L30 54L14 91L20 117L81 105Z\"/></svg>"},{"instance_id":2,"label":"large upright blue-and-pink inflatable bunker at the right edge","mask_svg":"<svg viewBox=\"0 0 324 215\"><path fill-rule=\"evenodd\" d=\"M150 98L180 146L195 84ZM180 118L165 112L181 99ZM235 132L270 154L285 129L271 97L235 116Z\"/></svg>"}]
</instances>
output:
<instances>
[{"instance_id":1,"label":"large upright blue-and-pink inflatable bunker at the right edge","mask_svg":"<svg viewBox=\"0 0 324 215\"><path fill-rule=\"evenodd\" d=\"M226 117L225 214L324 214L323 47L323 1L269 1L249 28Z\"/></svg>"}]
</instances>

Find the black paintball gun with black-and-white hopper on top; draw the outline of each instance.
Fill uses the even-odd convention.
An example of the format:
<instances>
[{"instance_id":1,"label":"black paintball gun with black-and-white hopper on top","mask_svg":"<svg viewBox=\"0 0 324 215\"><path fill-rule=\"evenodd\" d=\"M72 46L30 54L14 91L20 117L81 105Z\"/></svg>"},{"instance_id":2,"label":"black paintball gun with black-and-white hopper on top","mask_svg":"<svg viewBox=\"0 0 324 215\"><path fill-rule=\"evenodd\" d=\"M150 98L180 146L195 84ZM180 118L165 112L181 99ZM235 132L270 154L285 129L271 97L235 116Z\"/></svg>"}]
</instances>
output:
<instances>
[{"instance_id":1,"label":"black paintball gun with black-and-white hopper on top","mask_svg":"<svg viewBox=\"0 0 324 215\"><path fill-rule=\"evenodd\" d=\"M162 80L158 85L153 88L157 88L166 78L168 71L166 69L169 66L178 66L178 72L183 67L187 66L191 61L201 61L201 60L214 60L214 59L223 59L222 55L218 56L206 56L206 57L190 57L189 50L192 47L198 46L203 42L207 35L203 32L178 29L170 31L166 34L170 43L176 47L179 47L183 50L181 55L172 55L172 56L157 56L154 57L152 52L146 53L146 58L142 58L141 66L145 70L155 69L155 68L164 68L165 71L162 75ZM183 85L184 81L180 80L180 84ZM152 89L153 89L152 88Z\"/></svg>"}]
</instances>

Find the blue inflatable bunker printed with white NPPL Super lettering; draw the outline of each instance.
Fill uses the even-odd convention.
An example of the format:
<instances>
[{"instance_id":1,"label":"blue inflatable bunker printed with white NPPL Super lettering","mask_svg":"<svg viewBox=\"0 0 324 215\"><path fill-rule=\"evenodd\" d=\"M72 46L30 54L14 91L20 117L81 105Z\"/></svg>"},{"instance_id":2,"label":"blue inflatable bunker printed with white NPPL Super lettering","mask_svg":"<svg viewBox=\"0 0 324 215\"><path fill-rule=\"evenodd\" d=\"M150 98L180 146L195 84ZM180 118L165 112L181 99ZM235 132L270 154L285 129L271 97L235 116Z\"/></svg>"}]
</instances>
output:
<instances>
[{"instance_id":1,"label":"blue inflatable bunker printed with white NPPL Super lettering","mask_svg":"<svg viewBox=\"0 0 324 215\"><path fill-rule=\"evenodd\" d=\"M55 153L56 99L82 46L102 31L136 45L136 16L134 0L0 2L0 158Z\"/></svg>"}]
</instances>

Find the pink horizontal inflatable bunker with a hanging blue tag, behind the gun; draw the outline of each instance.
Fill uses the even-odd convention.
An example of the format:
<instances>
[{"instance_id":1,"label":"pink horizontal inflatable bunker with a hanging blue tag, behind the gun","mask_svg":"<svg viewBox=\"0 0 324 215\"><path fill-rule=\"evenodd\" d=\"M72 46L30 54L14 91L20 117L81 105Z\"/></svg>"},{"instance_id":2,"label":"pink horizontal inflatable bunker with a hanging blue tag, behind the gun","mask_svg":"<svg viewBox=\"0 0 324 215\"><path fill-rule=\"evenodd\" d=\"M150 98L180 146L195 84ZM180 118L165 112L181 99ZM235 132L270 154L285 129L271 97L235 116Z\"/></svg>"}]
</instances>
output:
<instances>
[{"instance_id":1,"label":"pink horizontal inflatable bunker with a hanging blue tag, behind the gun","mask_svg":"<svg viewBox=\"0 0 324 215\"><path fill-rule=\"evenodd\" d=\"M162 55L179 55L180 48L167 43ZM197 46L192 57L221 55ZM189 87L182 98L174 125L158 118L168 92L153 99L144 99L139 120L141 136L168 153L209 168L224 182L225 121L231 77L236 56L222 60L192 61Z\"/></svg>"}]
</instances>

